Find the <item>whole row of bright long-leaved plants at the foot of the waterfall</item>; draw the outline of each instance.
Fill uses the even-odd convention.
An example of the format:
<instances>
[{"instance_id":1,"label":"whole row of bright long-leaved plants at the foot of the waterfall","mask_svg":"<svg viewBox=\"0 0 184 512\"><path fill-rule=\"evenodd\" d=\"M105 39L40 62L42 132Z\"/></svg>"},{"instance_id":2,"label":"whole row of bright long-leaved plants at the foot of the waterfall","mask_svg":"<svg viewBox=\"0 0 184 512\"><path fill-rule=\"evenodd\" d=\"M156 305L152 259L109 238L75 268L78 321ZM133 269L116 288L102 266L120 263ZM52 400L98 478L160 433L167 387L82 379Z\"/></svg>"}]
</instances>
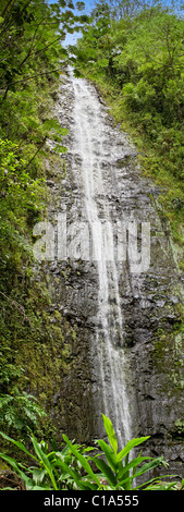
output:
<instances>
[{"instance_id":1,"label":"whole row of bright long-leaved plants at the foot of the waterfall","mask_svg":"<svg viewBox=\"0 0 184 512\"><path fill-rule=\"evenodd\" d=\"M131 451L145 442L149 436L127 441L125 447L118 452L118 440L112 423L105 415L103 425L109 443L99 439L97 441L98 448L85 448L71 442L63 435L64 448L60 450L53 443L51 452L48 452L48 444L45 441L38 442L33 435L30 435L30 440L34 453L29 452L22 442L1 432L5 440L33 459L34 466L16 463L14 459L3 453L0 453L0 458L10 464L24 480L26 490L130 490L140 488L144 490L176 490L183 488L184 480L181 483L179 480L162 481L165 475L157 478L149 475L147 481L138 484L138 477L161 464L168 467L168 464L162 456L142 456L142 452L137 456L130 458ZM95 470L91 467L91 462L96 466ZM167 475L167 478L173 476Z\"/></svg>"}]
</instances>

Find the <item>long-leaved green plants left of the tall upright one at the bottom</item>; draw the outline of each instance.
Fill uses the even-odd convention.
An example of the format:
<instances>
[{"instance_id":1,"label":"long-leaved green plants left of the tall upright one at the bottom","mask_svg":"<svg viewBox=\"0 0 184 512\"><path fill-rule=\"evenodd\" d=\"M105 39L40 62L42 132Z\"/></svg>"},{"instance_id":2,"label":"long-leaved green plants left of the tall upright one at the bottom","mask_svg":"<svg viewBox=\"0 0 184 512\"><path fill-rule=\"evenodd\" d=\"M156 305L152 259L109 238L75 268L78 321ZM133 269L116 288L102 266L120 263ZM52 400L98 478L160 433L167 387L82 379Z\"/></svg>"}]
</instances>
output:
<instances>
[{"instance_id":1,"label":"long-leaved green plants left of the tall upright one at the bottom","mask_svg":"<svg viewBox=\"0 0 184 512\"><path fill-rule=\"evenodd\" d=\"M94 478L96 479L96 487L93 488L98 488L98 485L100 485L98 477L94 474L87 461L88 455L86 452L91 452L94 448L84 448L68 440L69 443L66 443L62 451L59 451L56 442L53 442L53 451L48 452L48 443L45 441L38 442L35 436L30 435L34 448L33 454L23 442L10 438L4 432L0 434L7 441L12 442L26 453L28 458L34 460L34 466L27 467L23 463L17 463L12 456L0 453L0 458L10 464L14 472L24 480L26 490L90 489L90 481ZM82 475L83 467L86 472L85 477Z\"/></svg>"}]
</instances>

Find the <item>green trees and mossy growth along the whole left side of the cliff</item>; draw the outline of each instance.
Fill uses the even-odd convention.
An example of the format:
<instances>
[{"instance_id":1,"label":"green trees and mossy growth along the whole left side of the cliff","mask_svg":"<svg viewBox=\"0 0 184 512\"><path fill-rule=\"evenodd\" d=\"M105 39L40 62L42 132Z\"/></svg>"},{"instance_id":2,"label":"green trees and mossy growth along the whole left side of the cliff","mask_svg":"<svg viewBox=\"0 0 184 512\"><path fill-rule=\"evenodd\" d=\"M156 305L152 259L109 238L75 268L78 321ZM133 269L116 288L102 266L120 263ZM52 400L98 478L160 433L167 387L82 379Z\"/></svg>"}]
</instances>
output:
<instances>
[{"instance_id":1,"label":"green trees and mossy growth along the whole left side of the cliff","mask_svg":"<svg viewBox=\"0 0 184 512\"><path fill-rule=\"evenodd\" d=\"M76 5L83 10L83 2ZM48 141L50 167L63 173L68 130L54 117L59 77L70 60L62 40L86 20L70 0L1 0L0 425L24 438L44 414L40 404L48 406L58 381L51 375L65 366L62 319L48 313L45 276L35 279L32 233L47 218Z\"/></svg>"}]
</instances>

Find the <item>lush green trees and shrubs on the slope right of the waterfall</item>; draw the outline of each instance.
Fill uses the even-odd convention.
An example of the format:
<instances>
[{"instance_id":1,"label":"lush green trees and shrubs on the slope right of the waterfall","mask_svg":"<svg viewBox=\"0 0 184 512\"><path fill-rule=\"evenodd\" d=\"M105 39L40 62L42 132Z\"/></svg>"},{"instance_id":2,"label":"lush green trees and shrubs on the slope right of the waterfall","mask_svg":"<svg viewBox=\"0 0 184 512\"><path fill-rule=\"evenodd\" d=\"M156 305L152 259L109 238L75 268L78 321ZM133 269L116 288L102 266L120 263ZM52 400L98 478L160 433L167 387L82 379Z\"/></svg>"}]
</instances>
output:
<instances>
[{"instance_id":1,"label":"lush green trees and shrubs on the slope right of the waterfall","mask_svg":"<svg viewBox=\"0 0 184 512\"><path fill-rule=\"evenodd\" d=\"M179 2L97 3L78 39L78 69L93 80L115 121L132 134L137 161L161 186L183 268L184 215L184 19ZM162 192L163 191L163 192Z\"/></svg>"}]
</instances>

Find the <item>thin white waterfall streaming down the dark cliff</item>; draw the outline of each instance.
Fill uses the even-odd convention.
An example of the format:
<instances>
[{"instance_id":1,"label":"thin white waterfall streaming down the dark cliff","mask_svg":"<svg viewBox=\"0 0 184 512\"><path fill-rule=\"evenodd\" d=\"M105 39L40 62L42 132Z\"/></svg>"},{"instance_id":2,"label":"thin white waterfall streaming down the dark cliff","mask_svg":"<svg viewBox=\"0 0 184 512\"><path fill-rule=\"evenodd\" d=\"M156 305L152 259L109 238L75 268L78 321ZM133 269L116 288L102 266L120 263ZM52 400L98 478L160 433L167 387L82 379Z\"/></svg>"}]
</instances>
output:
<instances>
[{"instance_id":1,"label":"thin white waterfall streaming down the dark cliff","mask_svg":"<svg viewBox=\"0 0 184 512\"><path fill-rule=\"evenodd\" d=\"M79 158L78 187L89 225L93 259L98 269L98 319L93 344L99 367L103 412L111 419L122 446L132 437L127 395L128 361L124 348L124 318L119 292L114 228L108 199L106 112L95 89L71 76L74 89L73 156ZM113 169L110 168L110 172ZM109 171L108 171L109 172ZM100 198L100 200L99 200Z\"/></svg>"}]
</instances>

